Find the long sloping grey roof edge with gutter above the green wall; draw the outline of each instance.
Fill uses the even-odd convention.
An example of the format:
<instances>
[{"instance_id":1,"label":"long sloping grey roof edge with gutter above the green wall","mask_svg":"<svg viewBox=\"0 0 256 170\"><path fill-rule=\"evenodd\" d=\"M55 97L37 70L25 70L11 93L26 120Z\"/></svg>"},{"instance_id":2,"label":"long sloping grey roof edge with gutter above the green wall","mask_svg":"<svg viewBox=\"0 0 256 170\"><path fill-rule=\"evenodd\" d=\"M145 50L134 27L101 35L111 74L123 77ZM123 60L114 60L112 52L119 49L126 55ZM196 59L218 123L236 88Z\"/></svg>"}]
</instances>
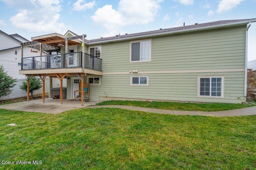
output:
<instances>
[{"instance_id":1,"label":"long sloping grey roof edge with gutter above the green wall","mask_svg":"<svg viewBox=\"0 0 256 170\"><path fill-rule=\"evenodd\" d=\"M214 29L220 27L230 27L234 25L246 25L249 22L256 22L256 18L253 19L244 19L244 20L223 20L223 21L214 21L208 23L196 23L194 25L187 25L182 27L174 27L174 28L167 28L167 29L158 29L154 31L146 31L141 33L132 33L127 35L117 35L114 37L106 37L100 39L92 39L88 40L87 42L90 44L104 41L118 41L123 39L130 39L136 37L150 37L150 36L158 36L158 35L165 35L165 34L172 34L172 33L181 33L181 32L188 32L188 31L200 31L206 29Z\"/></svg>"}]
</instances>

